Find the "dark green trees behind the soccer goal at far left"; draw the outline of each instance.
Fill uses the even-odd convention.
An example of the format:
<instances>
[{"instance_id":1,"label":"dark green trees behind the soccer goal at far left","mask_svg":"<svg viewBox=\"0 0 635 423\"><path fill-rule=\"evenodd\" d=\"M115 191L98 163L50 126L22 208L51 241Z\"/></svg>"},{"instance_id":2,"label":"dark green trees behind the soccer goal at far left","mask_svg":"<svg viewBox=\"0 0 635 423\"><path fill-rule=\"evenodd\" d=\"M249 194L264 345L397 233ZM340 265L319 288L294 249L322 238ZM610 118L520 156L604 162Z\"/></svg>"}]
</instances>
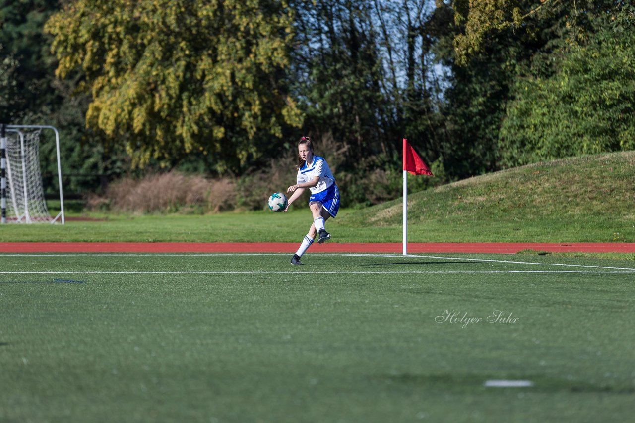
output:
<instances>
[{"instance_id":1,"label":"dark green trees behind the soccer goal at far left","mask_svg":"<svg viewBox=\"0 0 635 423\"><path fill-rule=\"evenodd\" d=\"M72 195L95 190L99 175L123 172L123 158L105 153L97 134L84 129L88 102L74 95L77 78L55 79L51 37L43 28L59 8L57 0L0 0L0 122L59 129L64 192ZM40 159L44 186L56 192L57 154L48 131L41 134Z\"/></svg>"}]
</instances>

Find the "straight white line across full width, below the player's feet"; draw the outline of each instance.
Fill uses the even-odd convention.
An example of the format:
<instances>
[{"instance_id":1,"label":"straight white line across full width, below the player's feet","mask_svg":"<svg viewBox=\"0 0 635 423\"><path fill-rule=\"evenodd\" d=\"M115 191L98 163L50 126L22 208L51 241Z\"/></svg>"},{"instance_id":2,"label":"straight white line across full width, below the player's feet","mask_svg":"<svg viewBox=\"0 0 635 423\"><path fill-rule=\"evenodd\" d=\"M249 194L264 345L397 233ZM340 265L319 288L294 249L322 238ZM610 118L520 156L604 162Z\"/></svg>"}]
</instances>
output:
<instances>
[{"instance_id":1,"label":"straight white line across full width, below the player's feet","mask_svg":"<svg viewBox=\"0 0 635 423\"><path fill-rule=\"evenodd\" d=\"M604 274L604 273L635 273L631 271L589 271L589 270L485 270L485 271L434 271L434 270L413 270L413 271L215 271L215 270L175 270L175 271L0 271L0 275L333 275L333 274L350 274L350 275L399 275L399 274L434 274L445 275L450 273L464 273L468 275L478 273L585 273L585 274Z\"/></svg>"}]
</instances>

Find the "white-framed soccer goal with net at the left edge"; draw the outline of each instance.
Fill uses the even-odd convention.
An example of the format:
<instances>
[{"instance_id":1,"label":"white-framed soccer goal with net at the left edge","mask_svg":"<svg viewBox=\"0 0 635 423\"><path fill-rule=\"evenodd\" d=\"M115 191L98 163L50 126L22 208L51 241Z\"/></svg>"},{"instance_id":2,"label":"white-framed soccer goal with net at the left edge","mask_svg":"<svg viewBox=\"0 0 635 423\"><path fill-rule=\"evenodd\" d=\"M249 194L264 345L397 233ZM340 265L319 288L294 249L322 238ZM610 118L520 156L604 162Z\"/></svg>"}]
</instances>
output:
<instances>
[{"instance_id":1,"label":"white-framed soccer goal with net at the left edge","mask_svg":"<svg viewBox=\"0 0 635 423\"><path fill-rule=\"evenodd\" d=\"M53 218L46 207L40 169L40 134L55 133L60 212ZM64 195L60 163L60 134L53 126L0 124L2 223L62 223Z\"/></svg>"}]
</instances>

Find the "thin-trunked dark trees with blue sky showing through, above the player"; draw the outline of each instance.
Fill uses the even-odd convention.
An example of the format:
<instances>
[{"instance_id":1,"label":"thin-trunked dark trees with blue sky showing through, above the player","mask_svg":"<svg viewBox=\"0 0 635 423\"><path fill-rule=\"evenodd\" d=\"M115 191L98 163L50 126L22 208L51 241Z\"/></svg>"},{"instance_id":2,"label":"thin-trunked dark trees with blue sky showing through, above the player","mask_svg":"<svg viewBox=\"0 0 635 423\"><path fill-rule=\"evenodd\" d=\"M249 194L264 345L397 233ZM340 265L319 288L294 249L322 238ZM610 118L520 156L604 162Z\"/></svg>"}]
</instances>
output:
<instances>
[{"instance_id":1,"label":"thin-trunked dark trees with blue sky showing through, above the player","mask_svg":"<svg viewBox=\"0 0 635 423\"><path fill-rule=\"evenodd\" d=\"M305 128L344 143L349 167L394 164L404 136L436 155L432 121L441 89L426 27L433 3L305 0L294 7L294 88Z\"/></svg>"}]
</instances>

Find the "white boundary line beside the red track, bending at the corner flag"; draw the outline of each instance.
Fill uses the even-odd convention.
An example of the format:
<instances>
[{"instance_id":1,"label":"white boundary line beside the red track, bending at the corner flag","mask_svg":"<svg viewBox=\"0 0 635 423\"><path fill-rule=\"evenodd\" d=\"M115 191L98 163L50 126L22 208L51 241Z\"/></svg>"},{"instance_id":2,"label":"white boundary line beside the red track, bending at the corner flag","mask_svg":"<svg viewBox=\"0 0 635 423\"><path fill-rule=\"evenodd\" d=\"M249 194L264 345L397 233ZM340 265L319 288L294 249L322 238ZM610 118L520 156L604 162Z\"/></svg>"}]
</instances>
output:
<instances>
[{"instance_id":1,"label":"white boundary line beside the red track, bending at the corner flag","mask_svg":"<svg viewBox=\"0 0 635 423\"><path fill-rule=\"evenodd\" d=\"M486 262L491 262L491 263L509 263L509 264L530 264L533 266L563 266L563 267L574 267L574 268L587 268L587 269L607 269L607 270L624 270L624 271L635 271L635 268L618 268L618 267L609 267L609 266L586 266L586 265L582 265L582 264L561 264L561 263L537 263L537 262L532 262L532 261L514 261L514 260L496 260L496 259L484 259L484 258L471 258L471 257L447 257L447 256L421 256L421 255L417 255L417 254L408 254L406 256L404 256L403 254L356 254L356 253L331 253L331 254L324 254L324 253L314 253L311 254L314 256L344 256L344 257L391 257L391 258L426 258L426 259L442 259L442 260L469 260L469 261L486 261ZM154 256L160 256L160 257L164 257L164 256L174 256L174 257L197 257L197 256L202 256L202 257L214 257L214 256L289 256L288 253L263 253L263 252L258 252L258 253L192 253L192 254L182 254L182 253L177 253L177 254L168 254L168 253L143 253L143 254L139 254L139 253L112 253L112 254L105 254L105 253L79 253L79 254L75 254L75 253L59 253L59 254L0 254L0 257L63 257L63 256L110 256L110 257L127 257L127 256L131 256L131 257L137 257L137 256L145 256L145 257L154 257ZM264 272L264 273L276 273L276 272ZM288 273L288 272L278 272L278 273ZM315 273L344 273L344 272L337 272L337 271L330 271L330 272L315 272ZM351 271L349 273L364 273L364 272L354 272ZM369 273L399 273L397 271L394 272L390 272L390 271L386 271L386 272L369 272ZM410 273L439 273L439 272L425 272L425 271L414 271L414 272L410 272ZM465 272L440 272L440 273L465 273ZM492 273L492 272L467 272L467 273ZM493 273L501 273L501 272L493 272ZM517 271L505 271L504 273L518 273ZM535 272L531 272L531 273L535 273ZM552 272L543 272L543 273L552 273ZM593 273L597 273L597 272L593 272ZM613 272L609 272L609 273L613 273ZM615 272L617 273L617 272ZM629 273L629 272L625 272L625 273ZM2 274L0 272L0 274Z\"/></svg>"}]
</instances>

